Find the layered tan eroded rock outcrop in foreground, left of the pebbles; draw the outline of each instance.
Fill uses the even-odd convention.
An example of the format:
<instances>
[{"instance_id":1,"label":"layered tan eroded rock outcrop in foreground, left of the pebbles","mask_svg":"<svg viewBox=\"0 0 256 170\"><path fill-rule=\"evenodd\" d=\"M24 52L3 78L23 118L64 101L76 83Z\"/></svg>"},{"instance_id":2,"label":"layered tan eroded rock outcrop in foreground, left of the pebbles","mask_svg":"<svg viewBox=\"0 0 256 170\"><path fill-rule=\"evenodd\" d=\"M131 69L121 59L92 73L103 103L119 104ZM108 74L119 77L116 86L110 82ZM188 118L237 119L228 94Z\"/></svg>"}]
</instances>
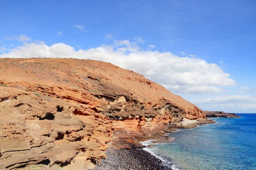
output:
<instances>
[{"instance_id":1,"label":"layered tan eroded rock outcrop in foreground, left of the pebbles","mask_svg":"<svg viewBox=\"0 0 256 170\"><path fill-rule=\"evenodd\" d=\"M48 95L8 87L0 94L0 169L30 164L88 169L91 160L105 157L112 137L108 117Z\"/></svg>"}]
</instances>

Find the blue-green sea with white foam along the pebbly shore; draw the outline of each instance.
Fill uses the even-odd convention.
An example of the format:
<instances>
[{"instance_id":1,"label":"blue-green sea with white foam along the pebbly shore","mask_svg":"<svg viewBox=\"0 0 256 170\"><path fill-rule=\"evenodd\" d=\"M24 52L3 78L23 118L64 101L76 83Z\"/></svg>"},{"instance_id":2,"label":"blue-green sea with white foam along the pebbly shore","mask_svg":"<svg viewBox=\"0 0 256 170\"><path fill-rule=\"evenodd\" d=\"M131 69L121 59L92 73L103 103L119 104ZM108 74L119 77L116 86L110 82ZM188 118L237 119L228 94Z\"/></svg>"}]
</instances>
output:
<instances>
[{"instance_id":1,"label":"blue-green sea with white foam along the pebbly shore","mask_svg":"<svg viewBox=\"0 0 256 170\"><path fill-rule=\"evenodd\" d=\"M169 134L171 141L144 149L172 169L256 169L256 114L238 115L242 118L213 118L216 124L179 129Z\"/></svg>"}]
</instances>

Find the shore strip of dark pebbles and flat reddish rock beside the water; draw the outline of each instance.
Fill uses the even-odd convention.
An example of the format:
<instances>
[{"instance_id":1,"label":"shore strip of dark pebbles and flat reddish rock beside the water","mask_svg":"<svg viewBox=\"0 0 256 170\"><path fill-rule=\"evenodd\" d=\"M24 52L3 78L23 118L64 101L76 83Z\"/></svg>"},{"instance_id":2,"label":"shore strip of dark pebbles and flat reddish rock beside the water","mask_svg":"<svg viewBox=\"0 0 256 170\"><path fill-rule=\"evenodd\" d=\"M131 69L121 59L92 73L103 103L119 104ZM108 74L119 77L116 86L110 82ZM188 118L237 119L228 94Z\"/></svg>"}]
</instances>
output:
<instances>
[{"instance_id":1,"label":"shore strip of dark pebbles and flat reddish rock beside the water","mask_svg":"<svg viewBox=\"0 0 256 170\"><path fill-rule=\"evenodd\" d=\"M166 125L164 130L157 133L150 134L147 137L135 137L136 140L131 142L130 135L122 138L114 138L111 142L110 148L106 150L106 158L96 160L96 167L94 170L119 170L119 169L133 169L133 170L156 170L156 169L172 169L172 164L169 162L162 162L159 158L152 155L150 152L143 150L143 146L139 141L154 140L156 143L170 141L171 138L167 133L172 133L177 129L195 128L198 125L213 124L213 120L181 120L176 125Z\"/></svg>"}]
</instances>

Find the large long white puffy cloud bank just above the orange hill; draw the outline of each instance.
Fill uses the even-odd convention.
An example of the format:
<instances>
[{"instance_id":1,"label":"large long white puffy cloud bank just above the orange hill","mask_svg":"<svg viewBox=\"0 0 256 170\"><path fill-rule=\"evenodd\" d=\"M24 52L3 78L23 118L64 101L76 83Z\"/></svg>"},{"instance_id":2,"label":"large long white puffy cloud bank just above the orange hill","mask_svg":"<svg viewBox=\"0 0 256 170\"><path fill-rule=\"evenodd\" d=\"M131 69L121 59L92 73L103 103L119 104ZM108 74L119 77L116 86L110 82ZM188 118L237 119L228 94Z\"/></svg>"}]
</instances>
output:
<instances>
[{"instance_id":1,"label":"large long white puffy cloud bank just above the orange hill","mask_svg":"<svg viewBox=\"0 0 256 170\"><path fill-rule=\"evenodd\" d=\"M113 63L123 69L134 70L168 90L180 94L205 94L223 91L223 86L236 82L213 63L200 58L179 57L171 52L141 49L137 42L114 41L113 45L75 50L64 43L51 46L35 42L24 43L0 57L71 57Z\"/></svg>"}]
</instances>

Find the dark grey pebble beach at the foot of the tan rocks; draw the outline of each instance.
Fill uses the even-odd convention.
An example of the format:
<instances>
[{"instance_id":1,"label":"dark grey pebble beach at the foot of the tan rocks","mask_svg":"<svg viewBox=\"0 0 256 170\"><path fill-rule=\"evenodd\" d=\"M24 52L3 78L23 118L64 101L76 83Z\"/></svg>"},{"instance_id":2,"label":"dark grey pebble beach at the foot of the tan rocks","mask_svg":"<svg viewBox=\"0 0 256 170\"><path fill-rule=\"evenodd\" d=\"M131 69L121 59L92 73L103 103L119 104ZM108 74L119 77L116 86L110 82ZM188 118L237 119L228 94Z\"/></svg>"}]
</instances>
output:
<instances>
[{"instance_id":1,"label":"dark grey pebble beach at the foot of the tan rocks","mask_svg":"<svg viewBox=\"0 0 256 170\"><path fill-rule=\"evenodd\" d=\"M94 169L171 169L170 167L163 165L162 160L141 149L108 149L106 155L107 158L101 159L101 163L96 164Z\"/></svg>"}]
</instances>

